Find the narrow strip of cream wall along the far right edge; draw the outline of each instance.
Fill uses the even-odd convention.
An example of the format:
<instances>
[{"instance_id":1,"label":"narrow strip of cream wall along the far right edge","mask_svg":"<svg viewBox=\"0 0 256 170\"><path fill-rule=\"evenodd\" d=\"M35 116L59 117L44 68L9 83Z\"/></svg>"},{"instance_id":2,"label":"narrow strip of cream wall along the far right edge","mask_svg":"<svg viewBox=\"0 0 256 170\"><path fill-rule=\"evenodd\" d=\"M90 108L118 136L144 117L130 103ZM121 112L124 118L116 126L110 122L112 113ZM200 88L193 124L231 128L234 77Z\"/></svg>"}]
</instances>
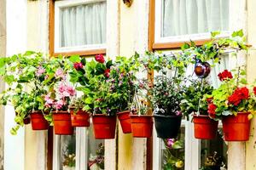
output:
<instances>
[{"instance_id":1,"label":"narrow strip of cream wall along the far right edge","mask_svg":"<svg viewBox=\"0 0 256 170\"><path fill-rule=\"evenodd\" d=\"M253 45L247 56L247 78L253 82L256 78L256 1L247 0L247 40ZM256 170L256 117L251 122L250 139L246 144L246 169Z\"/></svg>"}]
</instances>

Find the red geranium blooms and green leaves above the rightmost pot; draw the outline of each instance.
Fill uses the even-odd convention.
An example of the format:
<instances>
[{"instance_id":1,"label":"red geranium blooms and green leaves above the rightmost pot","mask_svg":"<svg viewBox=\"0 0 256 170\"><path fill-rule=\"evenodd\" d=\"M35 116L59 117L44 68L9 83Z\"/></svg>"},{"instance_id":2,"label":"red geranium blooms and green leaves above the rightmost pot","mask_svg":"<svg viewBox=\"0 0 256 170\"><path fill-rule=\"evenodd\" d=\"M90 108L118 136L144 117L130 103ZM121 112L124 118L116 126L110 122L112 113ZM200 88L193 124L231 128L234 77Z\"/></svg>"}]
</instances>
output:
<instances>
[{"instance_id":1,"label":"red geranium blooms and green leaves above the rightmost pot","mask_svg":"<svg viewBox=\"0 0 256 170\"><path fill-rule=\"evenodd\" d=\"M212 102L208 104L208 113L213 118L235 115L237 112L255 111L255 91L247 88L245 79L246 72L239 67L234 76L230 71L223 71L218 74L222 81L219 88L214 89L212 95L208 97ZM252 117L252 115L250 115Z\"/></svg>"}]
</instances>

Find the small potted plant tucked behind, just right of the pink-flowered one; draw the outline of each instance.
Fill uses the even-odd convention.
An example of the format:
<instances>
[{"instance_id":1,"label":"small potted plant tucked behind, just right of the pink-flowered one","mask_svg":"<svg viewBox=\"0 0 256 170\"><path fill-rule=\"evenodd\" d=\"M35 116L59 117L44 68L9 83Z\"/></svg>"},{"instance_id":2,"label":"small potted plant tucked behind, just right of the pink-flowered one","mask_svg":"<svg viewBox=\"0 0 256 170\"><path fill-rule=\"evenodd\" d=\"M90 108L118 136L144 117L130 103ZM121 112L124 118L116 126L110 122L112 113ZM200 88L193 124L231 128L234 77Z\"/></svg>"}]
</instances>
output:
<instances>
[{"instance_id":1,"label":"small potted plant tucked behind, just right of the pink-flowered one","mask_svg":"<svg viewBox=\"0 0 256 170\"><path fill-rule=\"evenodd\" d=\"M79 99L73 99L71 107L69 108L73 127L90 127L90 114L87 111L83 111L83 97L84 96Z\"/></svg>"}]
</instances>

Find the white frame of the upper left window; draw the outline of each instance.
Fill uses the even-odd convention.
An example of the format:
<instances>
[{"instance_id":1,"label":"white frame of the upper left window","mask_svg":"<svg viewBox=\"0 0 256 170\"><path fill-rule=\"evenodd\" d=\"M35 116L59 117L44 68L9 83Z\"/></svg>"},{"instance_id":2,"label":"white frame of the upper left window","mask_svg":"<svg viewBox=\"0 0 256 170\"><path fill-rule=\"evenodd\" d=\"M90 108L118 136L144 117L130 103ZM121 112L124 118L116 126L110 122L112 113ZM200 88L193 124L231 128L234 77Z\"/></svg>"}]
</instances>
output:
<instances>
[{"instance_id":1,"label":"white frame of the upper left window","mask_svg":"<svg viewBox=\"0 0 256 170\"><path fill-rule=\"evenodd\" d=\"M101 3L107 2L107 0L62 0L55 1L55 53L65 53L65 52L75 52L75 51L84 51L84 50L94 50L94 49L102 49L106 48L106 43L102 44L90 44L90 45L82 45L82 46L74 46L74 47L60 47L60 13L61 8L78 6L81 4L88 3ZM107 14L106 14L107 20Z\"/></svg>"}]
</instances>

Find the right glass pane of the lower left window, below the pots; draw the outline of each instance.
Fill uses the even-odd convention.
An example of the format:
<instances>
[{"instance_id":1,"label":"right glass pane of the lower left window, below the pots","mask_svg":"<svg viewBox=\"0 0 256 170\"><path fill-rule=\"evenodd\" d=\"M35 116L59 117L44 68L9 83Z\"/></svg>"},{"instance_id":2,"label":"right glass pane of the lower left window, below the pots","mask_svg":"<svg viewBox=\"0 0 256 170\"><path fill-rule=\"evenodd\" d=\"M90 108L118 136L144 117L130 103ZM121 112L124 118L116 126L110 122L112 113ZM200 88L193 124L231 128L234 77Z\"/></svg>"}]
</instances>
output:
<instances>
[{"instance_id":1,"label":"right glass pane of the lower left window, below the pots","mask_svg":"<svg viewBox=\"0 0 256 170\"><path fill-rule=\"evenodd\" d=\"M95 139L93 134L93 127L90 126L88 130L88 169L104 169L104 151L104 140Z\"/></svg>"}]
</instances>

